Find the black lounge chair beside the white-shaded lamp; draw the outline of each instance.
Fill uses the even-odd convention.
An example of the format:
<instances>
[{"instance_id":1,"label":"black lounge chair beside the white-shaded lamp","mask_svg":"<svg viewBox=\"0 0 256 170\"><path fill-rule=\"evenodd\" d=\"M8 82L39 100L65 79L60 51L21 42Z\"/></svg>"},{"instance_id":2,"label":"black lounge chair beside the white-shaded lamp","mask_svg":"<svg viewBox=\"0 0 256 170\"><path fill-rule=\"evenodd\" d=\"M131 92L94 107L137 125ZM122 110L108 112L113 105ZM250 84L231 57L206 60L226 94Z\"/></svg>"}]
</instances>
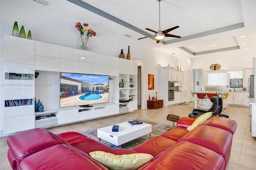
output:
<instances>
[{"instance_id":1,"label":"black lounge chair beside the white-shaded lamp","mask_svg":"<svg viewBox=\"0 0 256 170\"><path fill-rule=\"evenodd\" d=\"M217 115L217 96L211 97L210 100L212 102L212 107L209 110L206 111L206 110L201 110L201 109L194 109L192 111L192 113L190 113L188 115L188 117L195 118L197 115L202 115L207 112L212 112L212 115L216 116ZM218 113L218 115L221 117L229 118L229 116L227 116L227 115L221 115L220 114L221 111L222 111L222 98L219 98L219 113Z\"/></svg>"}]
</instances>

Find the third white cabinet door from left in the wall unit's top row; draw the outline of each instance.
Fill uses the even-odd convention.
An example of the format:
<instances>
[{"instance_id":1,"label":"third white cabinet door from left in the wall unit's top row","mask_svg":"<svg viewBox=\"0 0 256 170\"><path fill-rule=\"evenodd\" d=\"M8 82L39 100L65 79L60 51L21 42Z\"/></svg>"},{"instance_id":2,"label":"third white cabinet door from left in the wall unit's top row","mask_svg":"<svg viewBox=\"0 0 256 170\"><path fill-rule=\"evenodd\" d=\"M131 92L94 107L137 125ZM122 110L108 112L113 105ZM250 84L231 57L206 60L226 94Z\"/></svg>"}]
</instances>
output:
<instances>
[{"instance_id":1,"label":"third white cabinet door from left in the wall unit's top row","mask_svg":"<svg viewBox=\"0 0 256 170\"><path fill-rule=\"evenodd\" d=\"M68 59L78 61L78 49L60 46L60 59Z\"/></svg>"}]
</instances>

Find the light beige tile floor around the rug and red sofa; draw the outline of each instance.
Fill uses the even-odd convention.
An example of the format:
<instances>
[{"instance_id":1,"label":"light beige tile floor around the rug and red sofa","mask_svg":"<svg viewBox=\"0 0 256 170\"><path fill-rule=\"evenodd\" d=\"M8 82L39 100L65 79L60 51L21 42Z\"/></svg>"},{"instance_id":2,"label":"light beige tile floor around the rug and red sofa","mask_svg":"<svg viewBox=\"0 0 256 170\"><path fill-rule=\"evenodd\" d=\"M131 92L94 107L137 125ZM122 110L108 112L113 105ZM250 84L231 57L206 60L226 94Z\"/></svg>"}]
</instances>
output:
<instances>
[{"instance_id":1,"label":"light beige tile floor around the rug and red sofa","mask_svg":"<svg viewBox=\"0 0 256 170\"><path fill-rule=\"evenodd\" d=\"M113 125L130 119L140 118L158 123L172 123L166 120L168 114L179 115L180 117L188 117L192 112L194 102L189 105L172 105L160 109L138 109L134 112L104 117L90 121L72 123L58 127L48 128L53 133L62 133L67 131L84 132L93 128L100 128ZM230 159L227 170L256 170L256 138L251 136L249 127L249 108L228 106L225 108L227 112L222 114L229 115L230 119L238 123L238 128L233 136ZM0 170L10 170L10 164L7 159L8 145L6 137L0 138Z\"/></svg>"}]
</instances>

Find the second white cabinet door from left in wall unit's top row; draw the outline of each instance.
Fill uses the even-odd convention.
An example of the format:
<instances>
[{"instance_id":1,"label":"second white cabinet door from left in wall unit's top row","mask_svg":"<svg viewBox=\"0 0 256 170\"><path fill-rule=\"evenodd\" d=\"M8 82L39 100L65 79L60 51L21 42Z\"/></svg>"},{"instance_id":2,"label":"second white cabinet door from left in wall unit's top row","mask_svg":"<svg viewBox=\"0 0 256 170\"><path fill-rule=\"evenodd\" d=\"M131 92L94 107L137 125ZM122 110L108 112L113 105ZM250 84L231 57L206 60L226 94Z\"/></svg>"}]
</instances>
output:
<instances>
[{"instance_id":1,"label":"second white cabinet door from left in wall unit's top row","mask_svg":"<svg viewBox=\"0 0 256 170\"><path fill-rule=\"evenodd\" d=\"M36 41L35 54L44 56L44 57L52 57L59 58L59 45L44 43Z\"/></svg>"}]
</instances>

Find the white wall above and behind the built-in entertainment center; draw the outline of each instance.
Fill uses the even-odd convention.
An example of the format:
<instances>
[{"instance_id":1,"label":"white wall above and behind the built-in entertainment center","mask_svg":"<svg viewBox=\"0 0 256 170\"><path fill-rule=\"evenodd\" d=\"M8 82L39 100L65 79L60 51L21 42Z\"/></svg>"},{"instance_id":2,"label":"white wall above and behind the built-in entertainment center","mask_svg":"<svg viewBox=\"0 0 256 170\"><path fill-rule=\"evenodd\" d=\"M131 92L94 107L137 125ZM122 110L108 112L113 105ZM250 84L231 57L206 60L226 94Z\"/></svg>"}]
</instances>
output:
<instances>
[{"instance_id":1,"label":"white wall above and behind the built-in entertainment center","mask_svg":"<svg viewBox=\"0 0 256 170\"><path fill-rule=\"evenodd\" d=\"M61 10L62 2L60 1L59 3ZM72 4L70 6L72 6ZM86 22L86 19L88 17L90 16L85 15L83 17L84 20L80 20L80 22ZM74 28L74 25L78 21L78 18L80 18L80 16L77 18L67 17L63 14L51 11L47 6L43 6L42 4L38 4L32 0L0 0L0 83L3 83L4 79L3 37L4 34L12 35L14 21L18 22L19 29L21 28L21 26L24 26L26 34L28 33L28 30L31 30L32 40L77 48L77 38L79 32ZM88 51L118 57L121 49L124 49L124 54L126 55L128 52L128 45L130 45L131 60L133 60L134 58L142 60L143 76L141 108L146 109L148 93L151 93L153 95L158 91L159 88L161 88L158 84L159 75L158 70L156 69L156 66L159 63L159 53L154 49L149 49L148 47L145 47L139 42L131 41L127 37L118 36L112 32L107 32L106 30L104 30L104 25L102 26L102 28L97 28L92 25L90 25L90 27L94 31L96 31L97 35L91 38L91 45ZM15 50L15 47L13 48ZM178 58L161 52L160 64L162 66L167 66L169 64L171 67L175 67L176 65L178 65ZM40 77L42 78L50 76L47 74L51 73L40 73L36 81L39 81ZM148 74L155 75L155 89L150 91L148 90ZM57 83L58 85L60 84L59 80L50 81ZM52 97L52 94L54 94L54 96L56 97L59 97L59 87L57 88L56 85L49 87L48 90L48 93L43 95L40 94L40 89L36 88L35 95L40 96L41 101L49 99L49 96ZM3 91L3 88L0 87L0 101L4 100ZM56 102L52 103L52 105L50 106L45 105L45 108L56 109L55 107L59 106L59 103L57 102L57 99L53 100ZM3 125L3 119L1 119L3 117L4 110L3 103L4 102L0 102L0 131L2 130Z\"/></svg>"}]
</instances>

